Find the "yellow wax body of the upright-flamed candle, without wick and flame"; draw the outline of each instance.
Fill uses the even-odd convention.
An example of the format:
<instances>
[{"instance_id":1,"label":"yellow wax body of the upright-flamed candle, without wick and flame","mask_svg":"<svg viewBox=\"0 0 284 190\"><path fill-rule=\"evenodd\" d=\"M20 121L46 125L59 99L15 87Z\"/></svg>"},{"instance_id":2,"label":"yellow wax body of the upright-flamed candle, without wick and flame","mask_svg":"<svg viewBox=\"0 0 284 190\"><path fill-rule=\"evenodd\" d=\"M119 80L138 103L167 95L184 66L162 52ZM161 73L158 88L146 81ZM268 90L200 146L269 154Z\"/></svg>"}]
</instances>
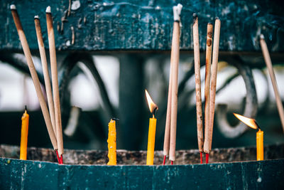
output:
<instances>
[{"instance_id":1,"label":"yellow wax body of the upright-flamed candle, without wick and flame","mask_svg":"<svg viewBox=\"0 0 284 190\"><path fill-rule=\"evenodd\" d=\"M155 151L155 125L157 120L155 117L149 120L149 132L148 132L148 149L147 149L147 165L153 165L154 163L154 151Z\"/></svg>"}]
</instances>

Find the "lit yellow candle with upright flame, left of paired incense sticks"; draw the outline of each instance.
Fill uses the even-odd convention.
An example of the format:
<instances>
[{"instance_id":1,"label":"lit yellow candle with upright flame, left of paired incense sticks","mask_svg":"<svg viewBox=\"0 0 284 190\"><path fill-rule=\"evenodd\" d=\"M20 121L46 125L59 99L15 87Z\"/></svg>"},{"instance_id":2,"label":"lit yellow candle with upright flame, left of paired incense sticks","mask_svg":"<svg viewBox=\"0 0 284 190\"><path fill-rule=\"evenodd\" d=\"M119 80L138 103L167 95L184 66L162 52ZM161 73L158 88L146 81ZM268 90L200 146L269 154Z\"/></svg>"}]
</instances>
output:
<instances>
[{"instance_id":1,"label":"lit yellow candle with upright flame, left of paired incense sticks","mask_svg":"<svg viewBox=\"0 0 284 190\"><path fill-rule=\"evenodd\" d=\"M157 120L155 119L155 111L158 110L158 106L155 105L147 90L145 90L147 102L149 105L150 112L153 117L149 120L149 132L148 132L148 149L147 149L147 165L153 165L154 163L154 151L155 151L155 126Z\"/></svg>"}]
</instances>

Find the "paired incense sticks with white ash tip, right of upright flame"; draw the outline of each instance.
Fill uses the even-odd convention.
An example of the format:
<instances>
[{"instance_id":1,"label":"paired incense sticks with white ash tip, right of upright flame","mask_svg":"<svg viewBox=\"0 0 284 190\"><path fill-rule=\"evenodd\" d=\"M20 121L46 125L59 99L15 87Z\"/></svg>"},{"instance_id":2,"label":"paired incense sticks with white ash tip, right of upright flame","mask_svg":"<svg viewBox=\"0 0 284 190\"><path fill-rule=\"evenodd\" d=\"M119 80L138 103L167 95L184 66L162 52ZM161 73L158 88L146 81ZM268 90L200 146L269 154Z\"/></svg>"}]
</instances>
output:
<instances>
[{"instance_id":1,"label":"paired incense sticks with white ash tip, right of upright flame","mask_svg":"<svg viewBox=\"0 0 284 190\"><path fill-rule=\"evenodd\" d=\"M173 6L173 41L170 54L170 81L168 90L167 117L165 122L164 161L170 153L171 164L175 161L175 140L178 113L178 63L180 60L180 12L182 5Z\"/></svg>"}]
</instances>

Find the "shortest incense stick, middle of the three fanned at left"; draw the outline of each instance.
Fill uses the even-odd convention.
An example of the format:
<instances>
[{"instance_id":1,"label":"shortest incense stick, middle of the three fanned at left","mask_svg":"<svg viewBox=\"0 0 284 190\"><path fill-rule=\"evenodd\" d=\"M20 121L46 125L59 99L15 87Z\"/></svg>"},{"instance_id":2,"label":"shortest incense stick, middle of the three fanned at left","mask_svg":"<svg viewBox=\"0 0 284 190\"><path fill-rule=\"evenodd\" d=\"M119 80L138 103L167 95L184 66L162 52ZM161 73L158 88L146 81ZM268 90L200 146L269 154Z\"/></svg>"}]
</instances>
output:
<instances>
[{"instance_id":1,"label":"shortest incense stick, middle of the three fanned at left","mask_svg":"<svg viewBox=\"0 0 284 190\"><path fill-rule=\"evenodd\" d=\"M53 125L53 132L54 134L56 134L53 92L51 90L51 85L50 85L50 78L48 73L48 61L46 60L45 47L43 43L43 34L41 33L40 19L38 16L35 16L35 31L36 31L36 37L38 38L38 49L40 51L40 60L41 64L43 65L43 76L45 80L46 95L48 96L48 108L49 108L51 124Z\"/></svg>"}]
</instances>

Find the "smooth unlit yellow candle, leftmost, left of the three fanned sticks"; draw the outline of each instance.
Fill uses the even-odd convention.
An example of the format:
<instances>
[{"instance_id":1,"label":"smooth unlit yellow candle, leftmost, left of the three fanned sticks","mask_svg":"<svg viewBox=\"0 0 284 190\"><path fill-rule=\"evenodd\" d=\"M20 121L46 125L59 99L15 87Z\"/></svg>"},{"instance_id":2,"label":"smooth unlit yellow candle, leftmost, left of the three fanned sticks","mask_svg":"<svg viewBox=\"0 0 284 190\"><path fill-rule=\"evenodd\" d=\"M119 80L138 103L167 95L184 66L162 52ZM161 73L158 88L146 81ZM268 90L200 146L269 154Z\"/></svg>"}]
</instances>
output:
<instances>
[{"instance_id":1,"label":"smooth unlit yellow candle, leftmost, left of the three fanned sticks","mask_svg":"<svg viewBox=\"0 0 284 190\"><path fill-rule=\"evenodd\" d=\"M25 110L22 116L20 159L26 160L28 146L28 113Z\"/></svg>"}]
</instances>

